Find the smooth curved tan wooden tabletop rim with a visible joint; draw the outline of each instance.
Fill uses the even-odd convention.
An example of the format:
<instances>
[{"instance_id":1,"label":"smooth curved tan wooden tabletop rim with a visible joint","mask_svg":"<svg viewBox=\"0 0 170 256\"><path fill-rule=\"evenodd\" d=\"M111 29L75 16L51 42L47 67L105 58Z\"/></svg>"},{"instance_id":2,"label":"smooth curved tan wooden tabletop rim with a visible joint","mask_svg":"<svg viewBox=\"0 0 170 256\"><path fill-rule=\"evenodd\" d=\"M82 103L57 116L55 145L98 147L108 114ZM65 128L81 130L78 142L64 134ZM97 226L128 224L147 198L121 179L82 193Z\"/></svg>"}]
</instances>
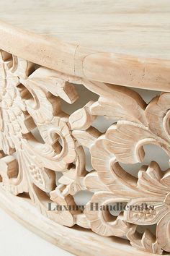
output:
<instances>
[{"instance_id":1,"label":"smooth curved tan wooden tabletop rim with a visible joint","mask_svg":"<svg viewBox=\"0 0 170 256\"><path fill-rule=\"evenodd\" d=\"M170 92L170 59L94 51L0 22L0 48L86 80Z\"/></svg>"}]
</instances>

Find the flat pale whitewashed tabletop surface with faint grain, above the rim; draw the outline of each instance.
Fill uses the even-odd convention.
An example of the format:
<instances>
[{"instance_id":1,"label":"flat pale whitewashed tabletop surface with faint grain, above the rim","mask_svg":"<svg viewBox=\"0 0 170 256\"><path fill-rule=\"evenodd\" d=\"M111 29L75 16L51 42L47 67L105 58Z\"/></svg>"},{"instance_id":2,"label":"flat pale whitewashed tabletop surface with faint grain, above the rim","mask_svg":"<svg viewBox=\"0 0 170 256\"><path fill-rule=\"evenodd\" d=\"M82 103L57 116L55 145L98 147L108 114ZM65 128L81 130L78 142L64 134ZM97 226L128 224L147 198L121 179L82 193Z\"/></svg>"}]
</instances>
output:
<instances>
[{"instance_id":1,"label":"flat pale whitewashed tabletop surface with faint grain, above the rim","mask_svg":"<svg viewBox=\"0 0 170 256\"><path fill-rule=\"evenodd\" d=\"M169 0L10 0L0 10L0 20L68 43L170 59Z\"/></svg>"}]
</instances>

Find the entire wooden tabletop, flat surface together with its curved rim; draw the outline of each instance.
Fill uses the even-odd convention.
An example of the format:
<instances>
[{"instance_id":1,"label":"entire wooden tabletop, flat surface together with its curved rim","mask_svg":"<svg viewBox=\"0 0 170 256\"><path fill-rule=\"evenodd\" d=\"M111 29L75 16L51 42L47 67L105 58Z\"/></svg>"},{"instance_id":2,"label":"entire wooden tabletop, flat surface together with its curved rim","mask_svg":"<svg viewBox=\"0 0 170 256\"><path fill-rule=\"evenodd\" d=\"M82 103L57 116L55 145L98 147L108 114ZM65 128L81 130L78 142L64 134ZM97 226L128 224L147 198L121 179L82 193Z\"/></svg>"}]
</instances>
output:
<instances>
[{"instance_id":1,"label":"entire wooden tabletop, flat surface together with its curved rim","mask_svg":"<svg viewBox=\"0 0 170 256\"><path fill-rule=\"evenodd\" d=\"M0 23L5 51L87 80L170 91L168 0L12 3L0 3L0 18L20 27Z\"/></svg>"}]
</instances>

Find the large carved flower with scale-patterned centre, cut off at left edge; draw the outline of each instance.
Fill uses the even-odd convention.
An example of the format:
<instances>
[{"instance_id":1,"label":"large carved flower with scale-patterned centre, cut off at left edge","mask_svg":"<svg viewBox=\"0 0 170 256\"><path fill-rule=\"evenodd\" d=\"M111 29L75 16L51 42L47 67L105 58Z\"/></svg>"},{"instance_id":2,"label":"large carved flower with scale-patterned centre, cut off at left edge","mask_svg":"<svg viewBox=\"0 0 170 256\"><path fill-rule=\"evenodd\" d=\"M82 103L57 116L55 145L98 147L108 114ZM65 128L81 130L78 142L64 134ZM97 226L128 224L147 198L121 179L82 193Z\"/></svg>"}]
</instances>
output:
<instances>
[{"instance_id":1,"label":"large carved flower with scale-patterned centre, cut off at left edge","mask_svg":"<svg viewBox=\"0 0 170 256\"><path fill-rule=\"evenodd\" d=\"M0 51L0 79L0 148L6 154L0 160L2 184L14 195L28 192L45 216L72 226L74 218L68 211L48 212L46 193L55 189L54 171L67 171L76 158L68 115L61 111L58 97L73 103L76 90L58 72L4 51ZM35 127L43 142L32 134Z\"/></svg>"}]
</instances>

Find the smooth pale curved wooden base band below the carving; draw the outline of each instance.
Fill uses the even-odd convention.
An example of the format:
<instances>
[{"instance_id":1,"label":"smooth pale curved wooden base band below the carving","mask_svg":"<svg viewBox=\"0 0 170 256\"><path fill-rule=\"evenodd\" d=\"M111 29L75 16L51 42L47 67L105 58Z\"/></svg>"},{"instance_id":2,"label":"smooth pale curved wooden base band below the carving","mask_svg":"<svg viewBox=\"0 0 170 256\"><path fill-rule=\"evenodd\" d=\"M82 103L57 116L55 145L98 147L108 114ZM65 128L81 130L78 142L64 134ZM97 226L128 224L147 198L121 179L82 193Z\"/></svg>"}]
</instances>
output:
<instances>
[{"instance_id":1,"label":"smooth pale curved wooden base band below the carving","mask_svg":"<svg viewBox=\"0 0 170 256\"><path fill-rule=\"evenodd\" d=\"M29 200L14 197L9 194L9 192L4 191L1 186L0 193L1 208L4 208L10 216L27 229L35 232L38 236L41 236L43 239L52 242L74 255L151 256L149 252L138 251L130 247L130 244L128 244L126 240L120 242L120 239L117 239L117 237L99 236L89 232L87 229L81 229L80 227L69 229L66 226L61 226L58 223L50 221L50 219L40 215L37 209L30 204ZM156 254L152 256L156 256Z\"/></svg>"}]
</instances>

